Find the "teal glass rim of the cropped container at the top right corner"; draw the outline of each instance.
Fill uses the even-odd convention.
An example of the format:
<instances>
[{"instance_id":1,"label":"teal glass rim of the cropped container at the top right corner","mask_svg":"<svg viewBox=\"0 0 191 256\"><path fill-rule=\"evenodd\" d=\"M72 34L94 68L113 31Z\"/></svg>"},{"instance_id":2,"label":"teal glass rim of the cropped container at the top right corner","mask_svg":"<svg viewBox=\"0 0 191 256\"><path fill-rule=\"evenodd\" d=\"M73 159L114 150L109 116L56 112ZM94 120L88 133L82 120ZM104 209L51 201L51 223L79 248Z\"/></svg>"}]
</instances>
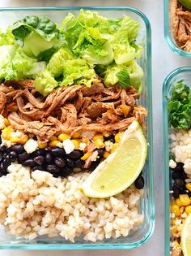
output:
<instances>
[{"instance_id":1,"label":"teal glass rim of the cropped container at the top right corner","mask_svg":"<svg viewBox=\"0 0 191 256\"><path fill-rule=\"evenodd\" d=\"M171 1L171 0L170 0ZM191 52L187 52L185 50L181 50L180 47L178 47L174 41L172 41L172 37L170 36L169 29L171 27L171 24L169 22L169 0L163 0L163 30L164 30L164 38L168 43L168 46L170 49L175 52L176 54L179 54L182 57L191 58Z\"/></svg>"}]
</instances>

